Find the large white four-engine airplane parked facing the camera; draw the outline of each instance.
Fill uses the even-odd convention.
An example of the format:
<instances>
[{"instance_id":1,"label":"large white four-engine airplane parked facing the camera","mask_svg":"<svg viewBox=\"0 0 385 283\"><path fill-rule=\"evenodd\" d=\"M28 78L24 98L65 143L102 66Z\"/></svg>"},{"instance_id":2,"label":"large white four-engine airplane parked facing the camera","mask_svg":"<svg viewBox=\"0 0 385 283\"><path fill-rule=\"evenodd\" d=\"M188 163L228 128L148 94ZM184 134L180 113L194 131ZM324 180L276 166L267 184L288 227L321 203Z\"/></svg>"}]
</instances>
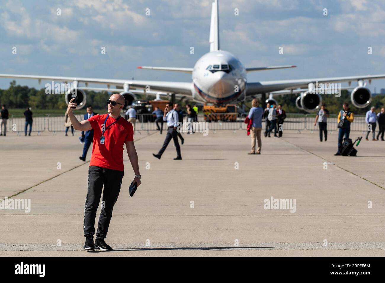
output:
<instances>
[{"instance_id":1,"label":"large white four-engine airplane parked facing the camera","mask_svg":"<svg viewBox=\"0 0 385 283\"><path fill-rule=\"evenodd\" d=\"M135 94L156 94L157 92L176 94L189 97L196 102L213 102L215 104L243 102L248 98L262 97L269 98L266 102L275 102L274 95L289 93L300 93L296 99L296 106L307 112L316 111L322 102L321 95L312 91L313 84L341 83L357 80L358 86L352 87L352 104L358 108L364 108L370 104L372 94L366 87L364 80L384 79L383 75L361 75L349 77L330 77L297 80L271 80L261 82L248 82L247 72L292 68L296 66L271 66L245 68L243 64L230 52L219 49L219 23L218 23L218 0L212 3L211 25L210 25L210 52L204 54L194 65L193 68L174 68L174 67L138 67L139 69L166 70L174 72L185 72L192 74L192 82L166 82L166 81L147 81L147 80L122 80L122 79L93 79L83 77L54 77L40 75L10 75L0 74L0 77L56 80L65 83L72 82L72 92L77 93L77 109L84 107L86 95L84 90L92 89L88 84L106 84L109 90L110 85L122 87L121 94L126 98L126 103L131 104L136 99ZM79 87L79 83L85 83L85 87ZM298 90L300 89L300 90ZM103 90L103 89L99 89ZM150 90L150 92L148 92ZM71 97L70 91L65 95L68 103Z\"/></svg>"}]
</instances>

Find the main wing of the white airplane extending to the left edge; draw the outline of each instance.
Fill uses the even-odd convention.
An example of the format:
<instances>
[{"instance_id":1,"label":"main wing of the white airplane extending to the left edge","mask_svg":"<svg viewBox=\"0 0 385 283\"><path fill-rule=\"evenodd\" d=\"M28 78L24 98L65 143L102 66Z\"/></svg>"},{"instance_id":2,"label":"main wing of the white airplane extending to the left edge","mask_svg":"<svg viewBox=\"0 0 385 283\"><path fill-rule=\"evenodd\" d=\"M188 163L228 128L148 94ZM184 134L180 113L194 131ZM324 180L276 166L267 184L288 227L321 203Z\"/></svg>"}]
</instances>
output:
<instances>
[{"instance_id":1,"label":"main wing of the white airplane extending to the left edge","mask_svg":"<svg viewBox=\"0 0 385 283\"><path fill-rule=\"evenodd\" d=\"M12 75L12 74L0 74L0 78L11 78L11 79L37 79L39 83L42 80L51 81L62 81L62 82L84 82L87 86L91 84L106 84L124 86L129 85L130 89L149 89L151 91L162 91L169 93L178 93L191 95L192 83L191 82L161 82L151 80L117 80L117 79L94 79L94 78L83 78L83 77L55 77L55 76L39 76L39 75ZM81 87L79 87L81 88Z\"/></svg>"}]
</instances>

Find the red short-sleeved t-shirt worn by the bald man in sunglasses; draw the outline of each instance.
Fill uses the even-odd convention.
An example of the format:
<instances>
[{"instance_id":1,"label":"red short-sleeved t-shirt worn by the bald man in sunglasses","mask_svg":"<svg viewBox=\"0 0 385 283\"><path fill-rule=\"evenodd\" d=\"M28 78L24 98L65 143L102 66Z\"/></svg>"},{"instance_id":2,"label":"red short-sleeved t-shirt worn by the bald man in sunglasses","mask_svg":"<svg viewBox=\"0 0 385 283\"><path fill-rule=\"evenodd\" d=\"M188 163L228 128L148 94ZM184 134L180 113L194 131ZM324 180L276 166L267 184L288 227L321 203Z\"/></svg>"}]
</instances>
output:
<instances>
[{"instance_id":1,"label":"red short-sleeved t-shirt worn by the bald man in sunglasses","mask_svg":"<svg viewBox=\"0 0 385 283\"><path fill-rule=\"evenodd\" d=\"M100 166L103 168L124 171L123 145L126 141L134 140L134 129L132 128L132 124L123 117L120 117L115 124L109 126L116 121L116 119L109 116L105 122L106 129L104 131L104 144L100 144L102 124L107 115L109 116L109 114L98 114L88 119L94 130L90 166Z\"/></svg>"}]
</instances>

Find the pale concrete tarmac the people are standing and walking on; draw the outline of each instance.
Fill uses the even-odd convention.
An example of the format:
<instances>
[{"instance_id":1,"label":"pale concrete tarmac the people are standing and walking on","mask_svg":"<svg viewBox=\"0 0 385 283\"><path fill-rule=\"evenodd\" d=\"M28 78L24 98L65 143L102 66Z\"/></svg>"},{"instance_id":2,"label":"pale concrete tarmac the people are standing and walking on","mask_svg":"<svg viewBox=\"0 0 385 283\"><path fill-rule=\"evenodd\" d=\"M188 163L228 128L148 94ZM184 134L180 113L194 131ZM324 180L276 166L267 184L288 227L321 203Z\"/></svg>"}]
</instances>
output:
<instances>
[{"instance_id":1,"label":"pale concrete tarmac the people are standing and walking on","mask_svg":"<svg viewBox=\"0 0 385 283\"><path fill-rule=\"evenodd\" d=\"M80 161L79 132L0 137L0 198L31 201L29 213L0 209L0 256L385 256L385 142L342 157L336 132L319 142L285 131L248 155L246 131L209 131L183 134L183 160L172 141L158 160L165 133L135 134L142 184L132 198L124 151L109 252L82 250L92 148ZM295 199L295 212L264 209L271 197Z\"/></svg>"}]
</instances>

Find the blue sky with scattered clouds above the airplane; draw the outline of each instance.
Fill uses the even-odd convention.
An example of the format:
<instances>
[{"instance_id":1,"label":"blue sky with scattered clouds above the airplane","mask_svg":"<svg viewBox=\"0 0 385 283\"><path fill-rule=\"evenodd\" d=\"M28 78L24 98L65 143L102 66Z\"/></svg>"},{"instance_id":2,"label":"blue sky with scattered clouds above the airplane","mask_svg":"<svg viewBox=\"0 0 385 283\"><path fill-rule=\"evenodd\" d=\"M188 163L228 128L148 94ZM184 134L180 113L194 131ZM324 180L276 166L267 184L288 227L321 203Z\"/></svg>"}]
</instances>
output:
<instances>
[{"instance_id":1,"label":"blue sky with scattered clouds above the airplane","mask_svg":"<svg viewBox=\"0 0 385 283\"><path fill-rule=\"evenodd\" d=\"M0 0L0 73L189 82L189 74L136 67L193 67L209 51L211 2ZM251 72L249 82L385 74L383 1L219 0L219 29L221 49L245 67L298 66ZM9 82L0 79L0 88Z\"/></svg>"}]
</instances>

